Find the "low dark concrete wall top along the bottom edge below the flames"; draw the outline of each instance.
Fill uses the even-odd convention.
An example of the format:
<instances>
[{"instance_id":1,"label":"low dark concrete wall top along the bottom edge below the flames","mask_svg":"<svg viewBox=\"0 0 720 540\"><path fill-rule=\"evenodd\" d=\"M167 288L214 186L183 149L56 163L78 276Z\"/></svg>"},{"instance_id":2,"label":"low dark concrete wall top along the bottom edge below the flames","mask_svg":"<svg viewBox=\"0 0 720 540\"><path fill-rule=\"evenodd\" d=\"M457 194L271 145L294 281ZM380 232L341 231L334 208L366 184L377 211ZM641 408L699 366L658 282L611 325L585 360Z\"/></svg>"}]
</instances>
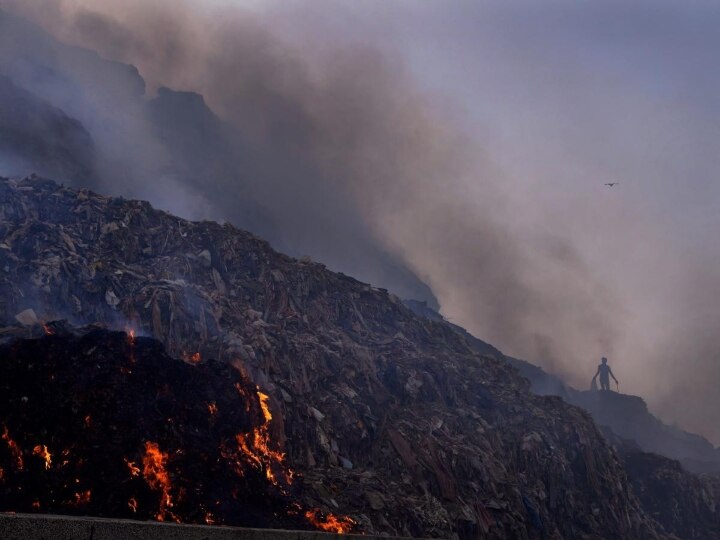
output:
<instances>
[{"instance_id":1,"label":"low dark concrete wall top along the bottom edge below the flames","mask_svg":"<svg viewBox=\"0 0 720 540\"><path fill-rule=\"evenodd\" d=\"M373 537L340 536L314 531L241 529L176 525L154 521L0 513L1 540L334 540L338 538L370 540Z\"/></svg>"}]
</instances>

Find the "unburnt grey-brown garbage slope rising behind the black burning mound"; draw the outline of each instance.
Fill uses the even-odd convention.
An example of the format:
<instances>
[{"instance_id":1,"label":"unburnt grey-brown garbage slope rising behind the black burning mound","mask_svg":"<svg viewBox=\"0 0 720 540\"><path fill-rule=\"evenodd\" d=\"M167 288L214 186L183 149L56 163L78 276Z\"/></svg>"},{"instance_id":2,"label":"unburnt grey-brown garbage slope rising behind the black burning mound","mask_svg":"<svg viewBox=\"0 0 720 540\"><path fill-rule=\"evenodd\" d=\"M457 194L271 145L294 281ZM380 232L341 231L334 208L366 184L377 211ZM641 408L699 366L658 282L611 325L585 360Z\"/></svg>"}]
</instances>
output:
<instances>
[{"instance_id":1,"label":"unburnt grey-brown garbage slope rising behind the black burning mound","mask_svg":"<svg viewBox=\"0 0 720 540\"><path fill-rule=\"evenodd\" d=\"M370 534L664 537L587 413L387 291L146 202L28 178L0 203L0 335L67 318L233 362L302 504Z\"/></svg>"}]
</instances>

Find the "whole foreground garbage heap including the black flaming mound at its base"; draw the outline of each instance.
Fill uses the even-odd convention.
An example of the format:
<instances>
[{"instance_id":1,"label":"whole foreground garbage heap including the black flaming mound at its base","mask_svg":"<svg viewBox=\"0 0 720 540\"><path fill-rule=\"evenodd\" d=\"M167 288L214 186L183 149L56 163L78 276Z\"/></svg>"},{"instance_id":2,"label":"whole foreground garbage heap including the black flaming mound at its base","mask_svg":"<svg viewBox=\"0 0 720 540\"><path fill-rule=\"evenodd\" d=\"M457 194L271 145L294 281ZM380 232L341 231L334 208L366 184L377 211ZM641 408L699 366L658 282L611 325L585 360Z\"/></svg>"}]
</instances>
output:
<instances>
[{"instance_id":1,"label":"whole foreground garbage heap including the black flaming mound at its base","mask_svg":"<svg viewBox=\"0 0 720 540\"><path fill-rule=\"evenodd\" d=\"M132 327L176 360L121 333L123 354L70 376L57 360L79 355L36 347L49 363L27 356L30 380L62 375L76 393L53 405L61 415L44 394L8 394L0 488L23 486L8 509L335 531L351 516L366 533L459 539L666 537L588 414L532 395L507 363L387 291L231 225L0 179L0 341L63 343L62 325L43 326L56 319ZM143 356L150 343L157 354ZM33 388L28 373L3 384ZM87 467L97 481L65 474Z\"/></svg>"}]
</instances>

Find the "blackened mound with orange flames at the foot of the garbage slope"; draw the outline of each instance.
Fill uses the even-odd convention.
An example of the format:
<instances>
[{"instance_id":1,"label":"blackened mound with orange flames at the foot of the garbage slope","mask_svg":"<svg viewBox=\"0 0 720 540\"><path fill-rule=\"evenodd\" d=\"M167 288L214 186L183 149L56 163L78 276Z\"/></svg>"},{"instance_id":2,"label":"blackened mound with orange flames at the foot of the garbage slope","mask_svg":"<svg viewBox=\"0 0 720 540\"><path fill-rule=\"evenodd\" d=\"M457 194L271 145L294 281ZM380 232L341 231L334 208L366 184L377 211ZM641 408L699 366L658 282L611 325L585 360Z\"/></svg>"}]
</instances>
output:
<instances>
[{"instance_id":1,"label":"blackened mound with orange flames at the foot of the garbage slope","mask_svg":"<svg viewBox=\"0 0 720 540\"><path fill-rule=\"evenodd\" d=\"M267 396L227 363L53 330L0 346L0 373L0 511L353 528L299 503Z\"/></svg>"}]
</instances>

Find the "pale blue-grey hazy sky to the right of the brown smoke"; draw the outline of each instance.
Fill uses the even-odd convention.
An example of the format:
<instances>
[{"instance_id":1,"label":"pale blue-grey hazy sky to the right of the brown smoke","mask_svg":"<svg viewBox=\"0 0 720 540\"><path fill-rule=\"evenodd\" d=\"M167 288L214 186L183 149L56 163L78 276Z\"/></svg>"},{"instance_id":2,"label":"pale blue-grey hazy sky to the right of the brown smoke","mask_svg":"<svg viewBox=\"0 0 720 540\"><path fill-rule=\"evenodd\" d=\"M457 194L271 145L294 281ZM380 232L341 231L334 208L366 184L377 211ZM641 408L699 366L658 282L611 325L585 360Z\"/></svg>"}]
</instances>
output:
<instances>
[{"instance_id":1,"label":"pale blue-grey hazy sky to the right of the brown smoke","mask_svg":"<svg viewBox=\"0 0 720 540\"><path fill-rule=\"evenodd\" d=\"M720 442L718 6L406 7L395 41L494 132L485 148L516 210L503 223L516 220L520 230L549 231L574 246L595 277L575 281L585 289L577 299L592 297L598 307L620 300L601 313L612 316L606 350L621 389ZM607 190L608 181L620 186ZM540 245L531 241L530 251ZM572 339L550 335L566 345ZM584 386L597 349L572 348L576 365L566 363L566 375Z\"/></svg>"}]
</instances>

